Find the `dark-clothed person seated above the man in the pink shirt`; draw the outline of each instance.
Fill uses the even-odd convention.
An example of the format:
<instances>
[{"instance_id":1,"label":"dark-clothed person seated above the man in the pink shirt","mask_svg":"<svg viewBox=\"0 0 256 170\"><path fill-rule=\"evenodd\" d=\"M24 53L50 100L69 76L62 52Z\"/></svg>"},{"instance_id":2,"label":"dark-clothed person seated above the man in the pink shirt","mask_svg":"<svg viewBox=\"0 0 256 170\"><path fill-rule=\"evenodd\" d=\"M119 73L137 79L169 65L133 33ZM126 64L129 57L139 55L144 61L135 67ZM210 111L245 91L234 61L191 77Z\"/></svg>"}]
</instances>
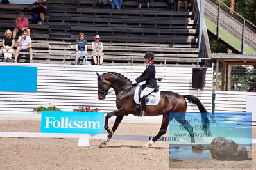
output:
<instances>
[{"instance_id":1,"label":"dark-clothed person seated above the man in the pink shirt","mask_svg":"<svg viewBox=\"0 0 256 170\"><path fill-rule=\"evenodd\" d=\"M37 2L32 4L33 8L33 19L37 19L38 24L44 24L44 16L46 15L47 6L43 0L38 0ZM39 18L40 16L40 18Z\"/></svg>"}]
</instances>

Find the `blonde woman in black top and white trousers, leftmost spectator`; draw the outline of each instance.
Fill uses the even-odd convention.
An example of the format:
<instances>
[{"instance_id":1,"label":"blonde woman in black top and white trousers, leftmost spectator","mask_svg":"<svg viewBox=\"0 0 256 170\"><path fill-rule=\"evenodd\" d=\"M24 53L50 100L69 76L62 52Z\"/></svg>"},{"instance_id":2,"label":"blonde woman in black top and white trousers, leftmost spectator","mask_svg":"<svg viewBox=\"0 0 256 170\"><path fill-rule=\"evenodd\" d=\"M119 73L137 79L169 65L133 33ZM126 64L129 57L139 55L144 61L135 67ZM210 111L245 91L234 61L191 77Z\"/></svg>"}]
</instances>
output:
<instances>
[{"instance_id":1,"label":"blonde woman in black top and white trousers, leftmost spectator","mask_svg":"<svg viewBox=\"0 0 256 170\"><path fill-rule=\"evenodd\" d=\"M8 62L10 59L12 59L12 53L14 52L14 38L12 37L12 31L11 30L6 30L4 33L4 37L2 40L3 44L3 49L2 52L9 52L9 53L4 53L4 61Z\"/></svg>"}]
</instances>

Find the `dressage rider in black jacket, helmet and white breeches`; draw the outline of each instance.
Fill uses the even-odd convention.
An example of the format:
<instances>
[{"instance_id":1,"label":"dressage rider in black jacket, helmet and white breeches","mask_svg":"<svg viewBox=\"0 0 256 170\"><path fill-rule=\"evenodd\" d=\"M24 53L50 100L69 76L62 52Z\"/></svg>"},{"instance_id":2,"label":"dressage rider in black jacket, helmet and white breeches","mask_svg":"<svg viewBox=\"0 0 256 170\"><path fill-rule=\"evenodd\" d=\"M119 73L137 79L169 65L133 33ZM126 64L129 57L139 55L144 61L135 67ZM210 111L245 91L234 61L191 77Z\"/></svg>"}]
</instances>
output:
<instances>
[{"instance_id":1,"label":"dressage rider in black jacket, helmet and white breeches","mask_svg":"<svg viewBox=\"0 0 256 170\"><path fill-rule=\"evenodd\" d=\"M137 77L137 79L135 79L135 81L132 82L132 84L138 84L142 81L146 81L145 88L140 95L140 98L141 98L140 116L146 116L146 96L152 93L155 90L155 88L158 87L157 81L155 79L155 66L153 64L155 55L153 54L153 52L146 52L144 58L146 63L148 63L148 65L146 66L146 69L142 73L142 75Z\"/></svg>"}]
</instances>

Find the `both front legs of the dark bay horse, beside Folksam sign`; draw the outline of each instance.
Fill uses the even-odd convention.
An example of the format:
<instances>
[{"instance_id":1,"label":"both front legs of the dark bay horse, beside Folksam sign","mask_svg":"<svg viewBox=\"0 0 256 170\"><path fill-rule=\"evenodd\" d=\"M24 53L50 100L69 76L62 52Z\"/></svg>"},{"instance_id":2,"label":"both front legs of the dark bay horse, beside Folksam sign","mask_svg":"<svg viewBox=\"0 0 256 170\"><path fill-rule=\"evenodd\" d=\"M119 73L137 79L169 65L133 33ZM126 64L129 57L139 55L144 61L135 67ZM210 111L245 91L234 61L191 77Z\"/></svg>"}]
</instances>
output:
<instances>
[{"instance_id":1,"label":"both front legs of the dark bay horse, beside Folksam sign","mask_svg":"<svg viewBox=\"0 0 256 170\"><path fill-rule=\"evenodd\" d=\"M112 130L108 127L108 120L109 118L111 118L112 116L117 116L117 118L115 119L115 123L114 123L114 126L112 128ZM112 135L114 134L115 130L117 129L117 127L119 126L120 122L123 120L123 117L124 117L124 112L122 110L117 110L117 111L114 111L114 112L109 112L106 116L105 116L105 125L104 125L104 128L105 130L107 130L108 132L108 139L107 141L103 141L101 143L101 147L103 146L106 146L107 145L107 142L110 141Z\"/></svg>"}]
</instances>

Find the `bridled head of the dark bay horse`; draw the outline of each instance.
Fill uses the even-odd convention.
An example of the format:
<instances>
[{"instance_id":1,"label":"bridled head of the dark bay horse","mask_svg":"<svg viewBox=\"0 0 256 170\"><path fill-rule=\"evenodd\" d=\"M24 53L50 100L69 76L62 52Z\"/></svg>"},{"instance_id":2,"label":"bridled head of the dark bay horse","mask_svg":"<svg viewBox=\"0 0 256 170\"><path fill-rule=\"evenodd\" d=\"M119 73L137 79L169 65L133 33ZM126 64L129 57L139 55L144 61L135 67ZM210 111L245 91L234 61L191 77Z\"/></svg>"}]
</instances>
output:
<instances>
[{"instance_id":1,"label":"bridled head of the dark bay horse","mask_svg":"<svg viewBox=\"0 0 256 170\"><path fill-rule=\"evenodd\" d=\"M103 76L99 75L98 76L98 98L99 100L104 100L106 98L106 95L108 93L108 89L110 89L110 86L103 80Z\"/></svg>"}]
</instances>

